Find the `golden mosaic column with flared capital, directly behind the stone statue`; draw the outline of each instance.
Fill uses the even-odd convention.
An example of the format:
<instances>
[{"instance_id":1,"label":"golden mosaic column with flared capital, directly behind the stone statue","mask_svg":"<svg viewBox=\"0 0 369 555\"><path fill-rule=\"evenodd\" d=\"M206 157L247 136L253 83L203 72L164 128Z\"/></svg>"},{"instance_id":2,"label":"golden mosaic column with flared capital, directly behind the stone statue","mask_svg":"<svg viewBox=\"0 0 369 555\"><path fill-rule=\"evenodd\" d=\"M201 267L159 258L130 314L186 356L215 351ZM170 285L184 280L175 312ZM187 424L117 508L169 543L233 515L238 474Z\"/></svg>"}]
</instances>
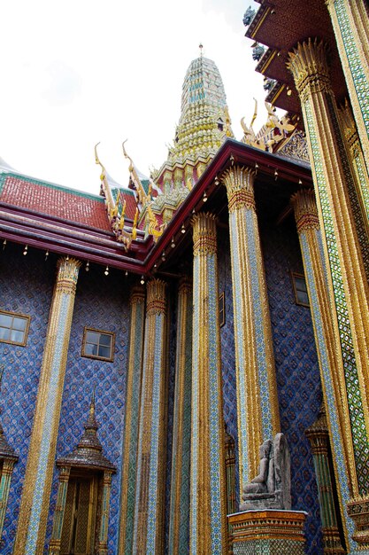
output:
<instances>
[{"instance_id":1,"label":"golden mosaic column with flared capital, directly behind the stone statue","mask_svg":"<svg viewBox=\"0 0 369 555\"><path fill-rule=\"evenodd\" d=\"M280 431L272 329L254 199L254 172L234 166L227 187L234 297L240 489L258 474L259 448Z\"/></svg>"}]
</instances>

